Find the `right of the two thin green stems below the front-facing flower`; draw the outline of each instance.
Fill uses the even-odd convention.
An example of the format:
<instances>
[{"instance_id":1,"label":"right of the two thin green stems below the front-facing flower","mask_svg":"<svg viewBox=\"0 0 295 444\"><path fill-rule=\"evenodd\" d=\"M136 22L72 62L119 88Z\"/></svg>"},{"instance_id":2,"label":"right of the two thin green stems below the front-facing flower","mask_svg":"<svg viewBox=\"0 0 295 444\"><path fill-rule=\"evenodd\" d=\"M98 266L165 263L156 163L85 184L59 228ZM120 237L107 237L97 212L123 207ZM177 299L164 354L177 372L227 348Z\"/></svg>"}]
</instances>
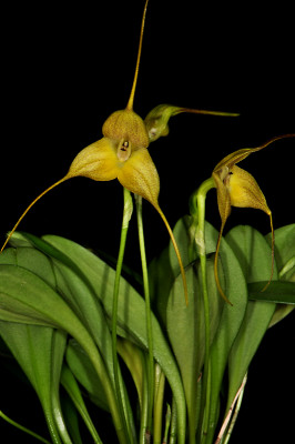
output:
<instances>
[{"instance_id":1,"label":"right of the two thin green stems below the front-facing flower","mask_svg":"<svg viewBox=\"0 0 295 444\"><path fill-rule=\"evenodd\" d=\"M146 337L148 337L148 347L149 347L148 432L151 432L152 431L152 416L153 416L153 398L154 398L154 357L153 357L151 299L150 299L150 285L149 285L148 264L146 264L145 243L144 243L144 231L143 231L143 221L142 221L142 196L135 195L135 202L136 202L139 240L140 240L140 252L141 252L141 263L142 263L143 292L144 292L144 299L145 299Z\"/></svg>"}]
</instances>

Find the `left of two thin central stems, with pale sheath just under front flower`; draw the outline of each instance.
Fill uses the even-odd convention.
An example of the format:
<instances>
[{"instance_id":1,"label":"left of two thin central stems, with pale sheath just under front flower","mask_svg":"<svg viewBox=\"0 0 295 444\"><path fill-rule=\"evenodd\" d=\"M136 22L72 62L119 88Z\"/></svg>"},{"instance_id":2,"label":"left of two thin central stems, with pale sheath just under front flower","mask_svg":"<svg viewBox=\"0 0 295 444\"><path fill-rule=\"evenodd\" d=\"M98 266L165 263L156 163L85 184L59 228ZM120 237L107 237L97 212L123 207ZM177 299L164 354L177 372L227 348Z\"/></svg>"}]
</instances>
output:
<instances>
[{"instance_id":1,"label":"left of two thin central stems, with pale sheath just under front flower","mask_svg":"<svg viewBox=\"0 0 295 444\"><path fill-rule=\"evenodd\" d=\"M124 190L124 208L123 208L123 220L122 220L122 229L121 229L121 239L120 239L120 249L118 254L118 262L116 262L116 270L115 270L115 280L114 280L114 290L113 290L113 312L112 312L112 353L113 353L113 367L114 367L114 383L115 383L115 391L118 396L119 403L119 411L121 415L121 421L124 428L124 434L126 437L126 442L131 441L130 431L128 426L126 416L124 413L124 402L123 395L120 385L120 366L118 360L118 352L116 352L116 323L118 323L118 301L119 301L119 287L120 287L120 278L122 272L123 265L123 258L126 244L126 235L129 229L129 221L132 215L133 204L130 191L125 188Z\"/></svg>"}]
</instances>

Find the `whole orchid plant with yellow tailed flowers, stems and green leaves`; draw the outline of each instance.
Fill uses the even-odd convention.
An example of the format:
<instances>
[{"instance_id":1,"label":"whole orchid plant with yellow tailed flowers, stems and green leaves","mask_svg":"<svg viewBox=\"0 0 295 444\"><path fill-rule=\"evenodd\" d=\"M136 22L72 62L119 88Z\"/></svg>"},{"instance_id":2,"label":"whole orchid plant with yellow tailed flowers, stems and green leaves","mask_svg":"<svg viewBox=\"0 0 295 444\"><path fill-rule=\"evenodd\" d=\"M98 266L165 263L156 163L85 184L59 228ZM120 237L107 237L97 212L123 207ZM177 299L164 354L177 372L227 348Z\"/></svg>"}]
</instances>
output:
<instances>
[{"instance_id":1,"label":"whole orchid plant with yellow tailed flowers, stems and green leaves","mask_svg":"<svg viewBox=\"0 0 295 444\"><path fill-rule=\"evenodd\" d=\"M170 119L238 114L171 104L155 107L145 119L133 111L148 2L126 107L105 120L103 137L77 154L61 180L32 201L1 250L1 361L13 356L20 365L40 400L48 433L40 436L8 417L4 405L0 416L43 443L114 442L113 435L104 437L100 417L111 421L122 444L228 443L257 347L295 304L295 224L275 230L257 182L236 165L295 134L226 155L192 193L190 215L174 230L160 208L149 147L169 134ZM32 205L75 176L118 179L123 186L116 260L104 261L69 239L17 231ZM212 189L220 232L205 220ZM142 199L170 234L170 244L150 264ZM140 284L123 263L134 202ZM264 211L271 234L238 225L224 236L232 206Z\"/></svg>"}]
</instances>

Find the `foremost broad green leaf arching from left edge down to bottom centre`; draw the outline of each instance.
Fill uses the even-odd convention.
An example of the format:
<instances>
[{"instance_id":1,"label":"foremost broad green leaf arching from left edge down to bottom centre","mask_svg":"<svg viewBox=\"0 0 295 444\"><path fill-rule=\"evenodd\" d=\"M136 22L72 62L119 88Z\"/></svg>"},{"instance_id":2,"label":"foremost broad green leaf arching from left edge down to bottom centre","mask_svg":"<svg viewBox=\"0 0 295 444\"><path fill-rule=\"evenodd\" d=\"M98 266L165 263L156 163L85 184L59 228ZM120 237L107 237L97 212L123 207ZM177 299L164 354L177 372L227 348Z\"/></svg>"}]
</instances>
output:
<instances>
[{"instance_id":1,"label":"foremost broad green leaf arching from left edge down to bottom centre","mask_svg":"<svg viewBox=\"0 0 295 444\"><path fill-rule=\"evenodd\" d=\"M99 377L104 383L112 417L121 433L116 400L104 362L87 327L62 297L34 273L16 265L0 265L0 303L17 314L28 316L28 322L44 322L64 330L88 353ZM120 440L123 437L120 436Z\"/></svg>"}]
</instances>

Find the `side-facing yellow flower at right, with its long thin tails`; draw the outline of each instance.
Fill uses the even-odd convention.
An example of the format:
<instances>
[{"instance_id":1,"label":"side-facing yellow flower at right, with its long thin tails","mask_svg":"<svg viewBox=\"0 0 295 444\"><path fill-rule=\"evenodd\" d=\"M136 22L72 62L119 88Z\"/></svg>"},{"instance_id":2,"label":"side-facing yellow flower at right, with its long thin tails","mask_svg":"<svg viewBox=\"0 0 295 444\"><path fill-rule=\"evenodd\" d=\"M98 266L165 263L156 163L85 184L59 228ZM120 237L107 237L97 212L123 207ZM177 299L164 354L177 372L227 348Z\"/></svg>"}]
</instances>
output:
<instances>
[{"instance_id":1,"label":"side-facing yellow flower at right, with its long thin tails","mask_svg":"<svg viewBox=\"0 0 295 444\"><path fill-rule=\"evenodd\" d=\"M260 145L257 148L245 148L237 150L228 154L226 158L224 158L213 170L212 176L217 190L217 204L222 220L216 252L215 252L214 273L218 291L222 297L226 302L230 301L227 300L221 287L221 283L218 280L218 272L217 272L217 261L218 261L218 251L220 251L222 233L224 230L225 222L228 215L231 214L232 206L258 209L264 211L269 216L271 230L272 230L272 269L271 269L269 281L265 285L263 291L268 286L269 282L272 281L274 271L274 228L273 228L272 211L269 210L265 196L262 190L260 189L256 180L247 171L242 170L242 168L240 167L236 167L236 163L247 158L251 153L260 151L263 148L269 145L276 140L291 137L295 137L295 134L285 134L273 138L263 145Z\"/></svg>"}]
</instances>

